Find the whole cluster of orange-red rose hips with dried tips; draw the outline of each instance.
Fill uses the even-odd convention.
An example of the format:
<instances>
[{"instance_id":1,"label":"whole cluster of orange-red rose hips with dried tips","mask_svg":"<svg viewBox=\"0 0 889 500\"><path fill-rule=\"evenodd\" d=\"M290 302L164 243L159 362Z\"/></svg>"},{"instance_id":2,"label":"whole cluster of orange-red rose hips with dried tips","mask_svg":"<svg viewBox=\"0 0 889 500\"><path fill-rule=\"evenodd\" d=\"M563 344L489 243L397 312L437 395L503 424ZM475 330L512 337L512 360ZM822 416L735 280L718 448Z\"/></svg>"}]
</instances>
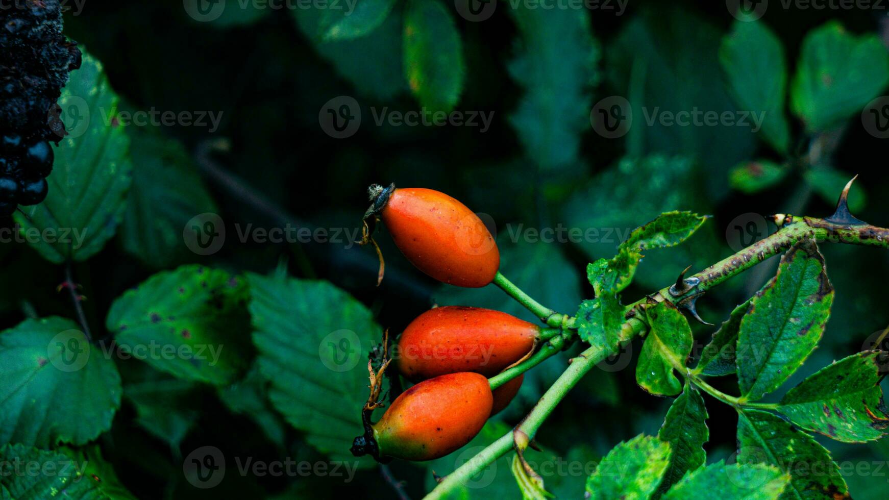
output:
<instances>
[{"instance_id":1,"label":"whole cluster of orange-red rose hips with dried tips","mask_svg":"<svg viewBox=\"0 0 889 500\"><path fill-rule=\"evenodd\" d=\"M463 203L424 188L372 187L365 215L379 217L404 257L440 282L478 288L493 282L500 251L485 224ZM414 319L397 341L398 373L416 383L368 433L356 456L432 460L472 440L509 405L524 375L491 390L493 377L531 353L541 328L507 313L436 307Z\"/></svg>"}]
</instances>

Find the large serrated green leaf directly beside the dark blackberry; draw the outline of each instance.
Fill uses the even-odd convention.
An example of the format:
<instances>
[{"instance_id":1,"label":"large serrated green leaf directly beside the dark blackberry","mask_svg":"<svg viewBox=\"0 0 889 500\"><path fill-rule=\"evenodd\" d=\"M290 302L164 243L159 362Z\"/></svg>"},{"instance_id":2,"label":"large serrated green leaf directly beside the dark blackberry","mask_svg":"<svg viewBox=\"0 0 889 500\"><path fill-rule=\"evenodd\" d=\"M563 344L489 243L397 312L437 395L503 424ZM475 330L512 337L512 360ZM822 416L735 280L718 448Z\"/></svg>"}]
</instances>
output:
<instances>
[{"instance_id":1,"label":"large serrated green leaf directly beside the dark blackberry","mask_svg":"<svg viewBox=\"0 0 889 500\"><path fill-rule=\"evenodd\" d=\"M44 202L16 213L22 233L52 234L30 244L54 264L92 257L115 234L130 187L130 139L116 122L118 98L102 64L84 52L62 89L61 117L70 135L55 150ZM27 217L26 217L27 215Z\"/></svg>"}]
</instances>

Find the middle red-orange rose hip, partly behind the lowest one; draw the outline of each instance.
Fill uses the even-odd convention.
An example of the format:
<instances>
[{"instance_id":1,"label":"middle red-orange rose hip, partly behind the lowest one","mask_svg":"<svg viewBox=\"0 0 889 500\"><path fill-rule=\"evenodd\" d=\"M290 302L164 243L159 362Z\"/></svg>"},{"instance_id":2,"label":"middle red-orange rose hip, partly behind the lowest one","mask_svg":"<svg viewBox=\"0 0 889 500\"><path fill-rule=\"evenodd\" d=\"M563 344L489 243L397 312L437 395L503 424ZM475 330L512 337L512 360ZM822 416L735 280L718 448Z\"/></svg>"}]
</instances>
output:
<instances>
[{"instance_id":1,"label":"middle red-orange rose hip, partly behind the lowest one","mask_svg":"<svg viewBox=\"0 0 889 500\"><path fill-rule=\"evenodd\" d=\"M417 316L398 338L398 371L412 382L458 371L493 377L531 352L540 331L500 311L436 307Z\"/></svg>"}]
</instances>

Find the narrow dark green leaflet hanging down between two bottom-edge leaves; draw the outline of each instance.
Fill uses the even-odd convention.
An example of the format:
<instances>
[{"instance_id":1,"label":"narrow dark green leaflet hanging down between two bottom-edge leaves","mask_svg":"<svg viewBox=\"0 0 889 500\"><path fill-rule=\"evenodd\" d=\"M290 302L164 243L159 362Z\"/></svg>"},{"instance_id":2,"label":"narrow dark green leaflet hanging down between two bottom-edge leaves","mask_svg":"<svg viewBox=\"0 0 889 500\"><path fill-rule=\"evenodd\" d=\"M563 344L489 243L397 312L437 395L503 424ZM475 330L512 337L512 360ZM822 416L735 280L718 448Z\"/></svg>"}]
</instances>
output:
<instances>
[{"instance_id":1,"label":"narrow dark green leaflet hanging down between two bottom-edge leaves","mask_svg":"<svg viewBox=\"0 0 889 500\"><path fill-rule=\"evenodd\" d=\"M669 468L661 481L661 493L682 479L685 472L695 471L707 461L703 448L710 435L707 417L701 393L686 384L685 391L670 405L664 425L658 432L658 438L669 442L671 450Z\"/></svg>"}]
</instances>

